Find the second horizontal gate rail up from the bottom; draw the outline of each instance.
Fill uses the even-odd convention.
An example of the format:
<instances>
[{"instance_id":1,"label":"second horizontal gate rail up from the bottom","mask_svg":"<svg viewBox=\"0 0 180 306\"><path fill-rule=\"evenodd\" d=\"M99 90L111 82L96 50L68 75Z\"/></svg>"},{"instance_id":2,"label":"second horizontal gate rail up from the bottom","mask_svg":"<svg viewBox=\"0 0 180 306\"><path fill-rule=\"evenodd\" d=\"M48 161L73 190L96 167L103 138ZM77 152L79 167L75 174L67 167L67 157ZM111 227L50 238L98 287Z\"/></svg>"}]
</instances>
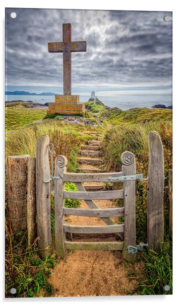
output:
<instances>
[{"instance_id":1,"label":"second horizontal gate rail up from the bottom","mask_svg":"<svg viewBox=\"0 0 180 306\"><path fill-rule=\"evenodd\" d=\"M84 234L93 234L93 233L116 233L124 232L124 225L107 225L107 226L79 226L79 225L69 225L64 224L64 232L72 233L84 233Z\"/></svg>"}]
</instances>

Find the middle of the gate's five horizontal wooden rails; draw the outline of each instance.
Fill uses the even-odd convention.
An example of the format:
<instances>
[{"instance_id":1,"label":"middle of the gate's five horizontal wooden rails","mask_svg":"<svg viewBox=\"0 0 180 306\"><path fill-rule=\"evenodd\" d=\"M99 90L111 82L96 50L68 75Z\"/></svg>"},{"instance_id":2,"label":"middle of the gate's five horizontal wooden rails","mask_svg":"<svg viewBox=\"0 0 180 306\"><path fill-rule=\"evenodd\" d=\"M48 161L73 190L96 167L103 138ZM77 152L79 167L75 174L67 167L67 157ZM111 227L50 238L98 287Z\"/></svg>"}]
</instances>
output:
<instances>
[{"instance_id":1,"label":"middle of the gate's five horizontal wooden rails","mask_svg":"<svg viewBox=\"0 0 180 306\"><path fill-rule=\"evenodd\" d=\"M107 208L107 209L78 209L64 208L64 215L84 216L84 217L123 217L124 208Z\"/></svg>"}]
</instances>

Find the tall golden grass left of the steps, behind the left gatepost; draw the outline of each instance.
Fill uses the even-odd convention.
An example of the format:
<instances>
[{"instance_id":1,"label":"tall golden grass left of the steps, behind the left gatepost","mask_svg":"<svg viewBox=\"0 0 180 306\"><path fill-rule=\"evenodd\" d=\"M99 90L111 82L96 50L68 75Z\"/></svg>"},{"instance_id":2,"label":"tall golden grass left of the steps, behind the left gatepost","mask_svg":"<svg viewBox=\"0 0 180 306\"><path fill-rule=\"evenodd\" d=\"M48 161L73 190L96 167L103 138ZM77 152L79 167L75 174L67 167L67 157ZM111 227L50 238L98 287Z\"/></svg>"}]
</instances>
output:
<instances>
[{"instance_id":1,"label":"tall golden grass left of the steps, behind the left gatepost","mask_svg":"<svg viewBox=\"0 0 180 306\"><path fill-rule=\"evenodd\" d=\"M67 157L68 171L75 171L77 167L77 150L80 148L87 136L80 134L77 129L68 124L44 122L29 128L6 134L6 156L36 154L36 142L42 135L49 135L50 142L54 144L56 155L62 154Z\"/></svg>"}]
</instances>

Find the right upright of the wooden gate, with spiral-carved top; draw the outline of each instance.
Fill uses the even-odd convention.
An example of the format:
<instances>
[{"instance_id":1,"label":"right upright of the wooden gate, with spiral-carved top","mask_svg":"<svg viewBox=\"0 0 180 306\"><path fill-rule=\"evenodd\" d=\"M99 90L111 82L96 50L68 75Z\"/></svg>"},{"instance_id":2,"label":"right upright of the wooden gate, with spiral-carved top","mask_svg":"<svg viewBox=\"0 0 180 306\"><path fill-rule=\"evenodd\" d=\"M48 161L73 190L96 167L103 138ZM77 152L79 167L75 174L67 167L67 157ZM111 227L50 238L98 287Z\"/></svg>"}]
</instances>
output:
<instances>
[{"instance_id":1,"label":"right upright of the wooden gate, with spiral-carved top","mask_svg":"<svg viewBox=\"0 0 180 306\"><path fill-rule=\"evenodd\" d=\"M135 157L131 152L122 153L122 174L135 175ZM128 254L127 246L136 247L136 220L135 220L135 180L124 181L124 248L123 258L128 261L133 261L137 258L137 254Z\"/></svg>"}]
</instances>

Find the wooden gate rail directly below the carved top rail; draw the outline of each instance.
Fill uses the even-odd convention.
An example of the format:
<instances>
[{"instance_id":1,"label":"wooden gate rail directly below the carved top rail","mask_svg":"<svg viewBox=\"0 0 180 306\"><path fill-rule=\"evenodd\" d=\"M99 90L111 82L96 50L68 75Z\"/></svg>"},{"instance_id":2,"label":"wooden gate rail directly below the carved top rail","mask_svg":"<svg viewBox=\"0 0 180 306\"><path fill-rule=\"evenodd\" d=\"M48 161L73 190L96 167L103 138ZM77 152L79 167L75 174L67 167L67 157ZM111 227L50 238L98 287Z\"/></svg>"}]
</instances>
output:
<instances>
[{"instance_id":1,"label":"wooden gate rail directly below the carved top rail","mask_svg":"<svg viewBox=\"0 0 180 306\"><path fill-rule=\"evenodd\" d=\"M79 199L79 200L111 200L123 199L123 189L113 191L64 191L64 199Z\"/></svg>"}]
</instances>

